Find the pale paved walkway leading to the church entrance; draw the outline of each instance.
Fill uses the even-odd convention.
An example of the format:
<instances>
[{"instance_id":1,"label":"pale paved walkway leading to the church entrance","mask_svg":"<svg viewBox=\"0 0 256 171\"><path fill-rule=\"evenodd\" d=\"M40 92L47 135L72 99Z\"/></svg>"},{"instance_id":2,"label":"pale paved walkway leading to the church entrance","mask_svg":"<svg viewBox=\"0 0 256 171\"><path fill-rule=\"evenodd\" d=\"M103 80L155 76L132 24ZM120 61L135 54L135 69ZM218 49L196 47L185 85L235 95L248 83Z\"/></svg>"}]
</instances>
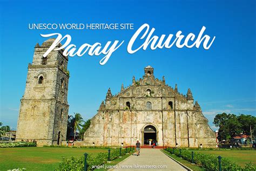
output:
<instances>
[{"instance_id":1,"label":"pale paved walkway leading to the church entrance","mask_svg":"<svg viewBox=\"0 0 256 171\"><path fill-rule=\"evenodd\" d=\"M126 167L126 168L125 168ZM147 167L147 168L145 168ZM151 169L149 168L151 167ZM165 168L163 168L165 167ZM136 153L118 163L114 169L118 170L186 170L176 161L166 156L160 149L142 148L140 155Z\"/></svg>"}]
</instances>

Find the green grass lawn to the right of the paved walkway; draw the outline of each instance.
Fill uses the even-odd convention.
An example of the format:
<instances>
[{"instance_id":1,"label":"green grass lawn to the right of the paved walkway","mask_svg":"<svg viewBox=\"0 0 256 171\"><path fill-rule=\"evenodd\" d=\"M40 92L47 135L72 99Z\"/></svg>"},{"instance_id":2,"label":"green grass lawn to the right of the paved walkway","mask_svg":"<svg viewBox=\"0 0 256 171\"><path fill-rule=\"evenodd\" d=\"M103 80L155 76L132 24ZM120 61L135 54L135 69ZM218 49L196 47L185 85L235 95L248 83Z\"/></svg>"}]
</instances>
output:
<instances>
[{"instance_id":1,"label":"green grass lawn to the right of the paved walkway","mask_svg":"<svg viewBox=\"0 0 256 171\"><path fill-rule=\"evenodd\" d=\"M204 151L196 150L194 152L199 152L203 154L213 154L215 156L221 156L238 163L240 166L244 167L245 163L252 162L256 165L256 151L244 151L244 150L225 150L225 151Z\"/></svg>"}]
</instances>

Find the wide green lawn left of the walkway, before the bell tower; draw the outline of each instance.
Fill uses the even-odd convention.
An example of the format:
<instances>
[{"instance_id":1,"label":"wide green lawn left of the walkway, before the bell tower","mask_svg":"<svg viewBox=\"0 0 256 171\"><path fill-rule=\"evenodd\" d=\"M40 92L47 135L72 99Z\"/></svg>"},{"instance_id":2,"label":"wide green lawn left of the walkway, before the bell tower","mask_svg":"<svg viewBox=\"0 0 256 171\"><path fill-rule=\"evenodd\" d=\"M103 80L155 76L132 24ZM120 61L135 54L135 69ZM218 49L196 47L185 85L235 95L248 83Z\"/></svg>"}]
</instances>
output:
<instances>
[{"instance_id":1,"label":"wide green lawn left of the walkway, before the bell tower","mask_svg":"<svg viewBox=\"0 0 256 171\"><path fill-rule=\"evenodd\" d=\"M55 148L55 147L15 147L0 148L0 170L26 168L27 170L53 170L62 156L80 157L84 153L107 152L100 148Z\"/></svg>"}]
</instances>

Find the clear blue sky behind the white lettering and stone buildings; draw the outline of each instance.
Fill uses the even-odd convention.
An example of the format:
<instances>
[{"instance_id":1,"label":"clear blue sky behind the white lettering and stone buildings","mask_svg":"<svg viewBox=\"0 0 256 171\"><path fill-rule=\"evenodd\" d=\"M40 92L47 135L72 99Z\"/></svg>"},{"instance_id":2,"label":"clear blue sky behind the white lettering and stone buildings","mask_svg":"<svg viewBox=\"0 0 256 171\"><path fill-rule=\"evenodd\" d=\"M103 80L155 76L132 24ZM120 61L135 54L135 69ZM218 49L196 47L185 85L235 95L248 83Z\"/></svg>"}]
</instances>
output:
<instances>
[{"instance_id":1,"label":"clear blue sky behind the white lettering and stone buildings","mask_svg":"<svg viewBox=\"0 0 256 171\"><path fill-rule=\"evenodd\" d=\"M212 124L217 113L255 115L255 1L131 1L131 2L50 2L1 1L0 5L0 112L1 122L16 129L19 100L25 90L28 64L33 47L47 38L40 34L59 32L72 36L80 46L125 40L105 65L103 56L69 58L69 113L79 112L90 119L105 99L107 88L116 94L123 83L129 86L132 76L139 79L144 67L154 67L154 75L179 92L191 88L205 117ZM134 30L29 30L29 23L133 23ZM126 46L144 23L155 28L154 35L216 36L209 50L192 49L140 50L127 53Z\"/></svg>"}]
</instances>

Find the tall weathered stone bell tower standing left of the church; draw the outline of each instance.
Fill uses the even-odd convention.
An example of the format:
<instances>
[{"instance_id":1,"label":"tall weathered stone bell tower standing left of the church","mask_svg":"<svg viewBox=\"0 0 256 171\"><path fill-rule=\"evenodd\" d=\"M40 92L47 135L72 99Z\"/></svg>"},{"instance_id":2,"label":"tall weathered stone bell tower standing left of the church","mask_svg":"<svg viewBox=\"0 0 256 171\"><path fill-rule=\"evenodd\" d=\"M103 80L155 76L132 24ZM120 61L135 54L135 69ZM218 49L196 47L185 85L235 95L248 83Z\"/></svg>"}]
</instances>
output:
<instances>
[{"instance_id":1,"label":"tall weathered stone bell tower standing left of the church","mask_svg":"<svg viewBox=\"0 0 256 171\"><path fill-rule=\"evenodd\" d=\"M42 146L60 145L66 140L68 57L63 56L62 50L43 57L54 40L48 39L41 46L35 46L21 99L16 141L36 141Z\"/></svg>"}]
</instances>

